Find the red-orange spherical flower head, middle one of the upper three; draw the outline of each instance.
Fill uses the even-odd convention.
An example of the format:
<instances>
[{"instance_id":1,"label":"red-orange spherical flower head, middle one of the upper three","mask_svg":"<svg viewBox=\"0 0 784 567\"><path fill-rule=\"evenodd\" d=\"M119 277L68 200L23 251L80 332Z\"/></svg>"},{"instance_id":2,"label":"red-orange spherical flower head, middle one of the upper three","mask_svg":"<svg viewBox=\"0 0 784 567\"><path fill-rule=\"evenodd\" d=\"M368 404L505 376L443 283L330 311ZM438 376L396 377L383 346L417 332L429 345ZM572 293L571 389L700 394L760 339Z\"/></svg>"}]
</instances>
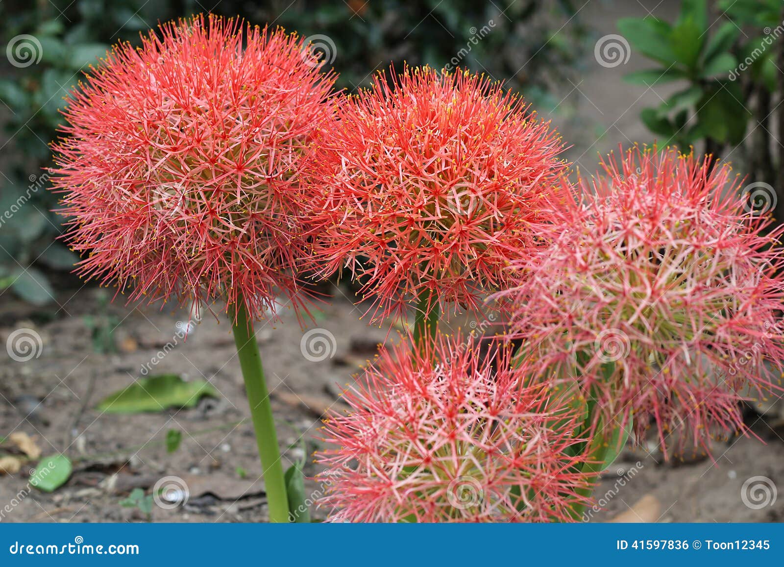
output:
<instances>
[{"instance_id":1,"label":"red-orange spherical flower head, middle one of the upper three","mask_svg":"<svg viewBox=\"0 0 784 567\"><path fill-rule=\"evenodd\" d=\"M314 202L325 273L349 267L373 319L402 314L406 297L428 294L429 313L502 287L566 168L550 125L486 78L428 67L391 85L377 76L337 114L307 168L325 187Z\"/></svg>"}]
</instances>

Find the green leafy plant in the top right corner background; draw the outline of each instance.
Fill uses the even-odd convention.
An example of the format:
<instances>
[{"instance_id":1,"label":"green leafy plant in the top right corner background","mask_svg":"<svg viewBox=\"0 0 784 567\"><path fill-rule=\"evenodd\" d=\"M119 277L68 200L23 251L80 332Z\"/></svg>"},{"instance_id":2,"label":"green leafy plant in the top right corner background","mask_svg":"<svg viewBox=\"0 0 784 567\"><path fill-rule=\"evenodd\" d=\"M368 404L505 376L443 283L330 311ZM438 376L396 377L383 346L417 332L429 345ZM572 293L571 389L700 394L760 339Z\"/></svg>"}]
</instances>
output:
<instances>
[{"instance_id":1,"label":"green leafy plant in the top right corner background","mask_svg":"<svg viewBox=\"0 0 784 567\"><path fill-rule=\"evenodd\" d=\"M784 68L784 8L779 0L722 0L718 8L715 21L706 0L683 0L673 23L653 16L619 20L619 31L633 49L656 64L626 80L652 87L682 85L658 107L641 112L659 144L684 151L695 147L717 158L729 155L742 162L750 179L782 191L784 148L772 143L771 122L778 119L779 128L784 124L784 109L773 104L784 87L779 71ZM779 147L778 160L774 147ZM775 216L781 221L784 198L779 194L776 200Z\"/></svg>"}]
</instances>

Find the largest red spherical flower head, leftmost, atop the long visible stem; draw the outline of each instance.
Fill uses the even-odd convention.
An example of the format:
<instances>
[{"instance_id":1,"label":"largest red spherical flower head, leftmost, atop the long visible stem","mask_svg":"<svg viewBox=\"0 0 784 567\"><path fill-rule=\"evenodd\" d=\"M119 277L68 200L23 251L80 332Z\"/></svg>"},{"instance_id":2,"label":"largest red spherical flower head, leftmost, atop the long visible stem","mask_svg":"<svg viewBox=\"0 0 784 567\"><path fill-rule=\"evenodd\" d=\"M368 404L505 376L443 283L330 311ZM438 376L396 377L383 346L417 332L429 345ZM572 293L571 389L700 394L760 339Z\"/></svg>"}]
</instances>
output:
<instances>
[{"instance_id":1,"label":"largest red spherical flower head, leftmost, atop the long visible stem","mask_svg":"<svg viewBox=\"0 0 784 567\"><path fill-rule=\"evenodd\" d=\"M118 45L64 111L53 185L78 272L130 298L300 304L297 172L332 75L283 31L197 16Z\"/></svg>"}]
</instances>

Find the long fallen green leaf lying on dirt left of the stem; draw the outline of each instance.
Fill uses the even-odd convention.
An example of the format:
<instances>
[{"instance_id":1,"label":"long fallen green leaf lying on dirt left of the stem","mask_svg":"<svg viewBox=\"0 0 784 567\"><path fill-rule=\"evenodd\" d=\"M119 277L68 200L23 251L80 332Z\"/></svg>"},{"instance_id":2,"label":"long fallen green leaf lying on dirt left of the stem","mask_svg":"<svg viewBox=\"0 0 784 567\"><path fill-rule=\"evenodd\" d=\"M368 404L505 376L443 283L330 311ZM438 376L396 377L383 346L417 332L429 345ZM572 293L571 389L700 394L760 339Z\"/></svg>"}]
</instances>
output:
<instances>
[{"instance_id":1,"label":"long fallen green leaf lying on dirt left of the stem","mask_svg":"<svg viewBox=\"0 0 784 567\"><path fill-rule=\"evenodd\" d=\"M140 378L103 398L96 409L107 413L162 412L168 408L192 408L202 396L217 397L218 391L205 380L186 382L177 374Z\"/></svg>"}]
</instances>

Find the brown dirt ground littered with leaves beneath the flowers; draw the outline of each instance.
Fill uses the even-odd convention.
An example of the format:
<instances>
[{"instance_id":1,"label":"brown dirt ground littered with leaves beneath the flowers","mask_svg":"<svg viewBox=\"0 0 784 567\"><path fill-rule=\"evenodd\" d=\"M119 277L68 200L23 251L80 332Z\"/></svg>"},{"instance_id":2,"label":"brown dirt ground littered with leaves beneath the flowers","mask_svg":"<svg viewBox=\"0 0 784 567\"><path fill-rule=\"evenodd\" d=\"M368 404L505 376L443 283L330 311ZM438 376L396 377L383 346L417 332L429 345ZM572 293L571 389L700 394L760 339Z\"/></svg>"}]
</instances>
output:
<instances>
[{"instance_id":1,"label":"brown dirt ground littered with leaves beneath the flowers","mask_svg":"<svg viewBox=\"0 0 784 567\"><path fill-rule=\"evenodd\" d=\"M29 463L17 474L0 478L0 503L13 503L2 522L125 522L144 521L140 511L120 502L133 488L150 492L156 482L176 477L187 485L189 498L180 506L154 506L154 522L260 522L267 518L263 481L256 444L242 387L234 343L226 321L205 316L201 324L178 340L187 311L129 308L120 303L100 309L100 293L85 287L61 293L62 306L45 310L24 307L9 294L0 296L0 339L5 343L15 329L34 329L42 338L38 358L28 362L7 359L0 380L0 434L23 431L33 437L43 454L63 451L74 461L74 473L53 493L29 490ZM359 320L361 310L336 289L308 329L325 329L335 337L335 348L311 350L303 355L304 332L292 311L281 309L282 322L258 331L285 466L318 448L320 416L329 406L339 408L340 385L367 358L386 329L368 327ZM70 299L69 299L70 298ZM114 340L121 351L94 351L89 319L119 322ZM308 330L306 329L306 330ZM325 334L322 331L319 333ZM325 335L328 336L328 335ZM164 356L159 351L176 341ZM331 354L331 356L329 356ZM209 380L217 398L201 398L192 409L161 413L118 415L102 413L96 404L140 376L143 365L151 373L177 373L187 380ZM765 477L784 485L784 441L774 420L749 413L761 440L735 438L717 444L715 462L699 460L675 466L642 449L622 454L605 474L597 497L603 510L589 519L603 522L626 511L655 514L659 522L780 522L784 497L762 507L743 485ZM167 453L165 435L183 432L175 453ZM303 444L304 442L304 444ZM306 474L314 474L307 455ZM763 487L764 488L764 487ZM753 487L752 487L753 489ZM307 492L318 496L320 487L307 481ZM29 493L28 493L29 492ZM21 495L21 497L20 497ZM639 507L634 503L643 499ZM758 494L757 496L760 496ZM750 500L751 499L751 500ZM630 511L630 507L633 508ZM315 518L325 511L314 510Z\"/></svg>"}]
</instances>

